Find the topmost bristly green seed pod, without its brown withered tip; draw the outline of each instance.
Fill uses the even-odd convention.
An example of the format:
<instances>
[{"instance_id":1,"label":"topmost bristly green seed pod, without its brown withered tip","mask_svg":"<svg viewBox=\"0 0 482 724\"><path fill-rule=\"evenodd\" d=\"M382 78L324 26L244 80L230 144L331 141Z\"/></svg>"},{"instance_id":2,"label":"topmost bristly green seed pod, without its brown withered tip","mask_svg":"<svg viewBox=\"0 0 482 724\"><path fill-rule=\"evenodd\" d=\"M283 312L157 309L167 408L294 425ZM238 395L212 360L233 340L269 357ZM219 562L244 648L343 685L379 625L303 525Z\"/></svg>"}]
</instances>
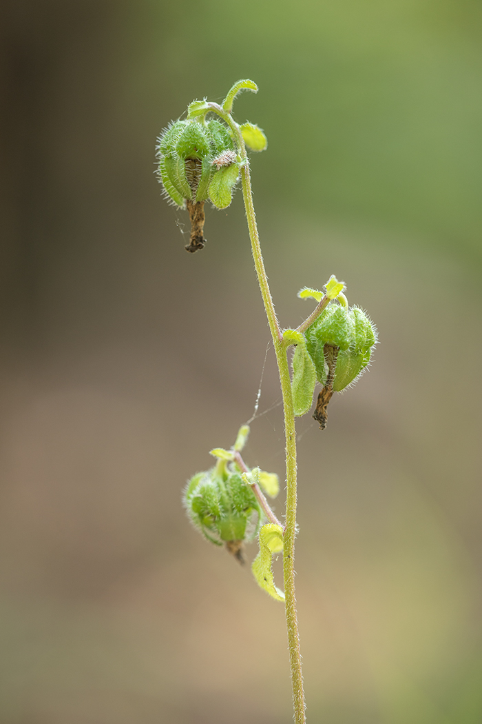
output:
<instances>
[{"instance_id":1,"label":"topmost bristly green seed pod, without its brown withered tip","mask_svg":"<svg viewBox=\"0 0 482 724\"><path fill-rule=\"evenodd\" d=\"M239 158L228 127L211 119L172 122L158 138L158 175L168 198L184 208L209 199L218 209L230 205Z\"/></svg>"}]
</instances>

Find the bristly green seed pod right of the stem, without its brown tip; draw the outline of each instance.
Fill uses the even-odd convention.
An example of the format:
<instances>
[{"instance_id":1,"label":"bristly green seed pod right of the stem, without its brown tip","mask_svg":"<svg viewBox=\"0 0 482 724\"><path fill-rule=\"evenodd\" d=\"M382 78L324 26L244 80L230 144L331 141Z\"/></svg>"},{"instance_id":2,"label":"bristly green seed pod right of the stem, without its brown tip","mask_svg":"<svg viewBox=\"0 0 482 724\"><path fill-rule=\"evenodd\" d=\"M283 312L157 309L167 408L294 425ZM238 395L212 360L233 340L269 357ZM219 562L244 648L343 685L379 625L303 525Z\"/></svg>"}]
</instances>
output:
<instances>
[{"instance_id":1,"label":"bristly green seed pod right of the stem, without its brown tip","mask_svg":"<svg viewBox=\"0 0 482 724\"><path fill-rule=\"evenodd\" d=\"M306 350L314 363L318 382L327 383L327 353L335 354L335 376L332 389L341 392L366 368L371 349L376 343L376 327L360 308L349 309L330 302L320 316L306 329ZM336 354L337 351L337 354Z\"/></svg>"}]
</instances>

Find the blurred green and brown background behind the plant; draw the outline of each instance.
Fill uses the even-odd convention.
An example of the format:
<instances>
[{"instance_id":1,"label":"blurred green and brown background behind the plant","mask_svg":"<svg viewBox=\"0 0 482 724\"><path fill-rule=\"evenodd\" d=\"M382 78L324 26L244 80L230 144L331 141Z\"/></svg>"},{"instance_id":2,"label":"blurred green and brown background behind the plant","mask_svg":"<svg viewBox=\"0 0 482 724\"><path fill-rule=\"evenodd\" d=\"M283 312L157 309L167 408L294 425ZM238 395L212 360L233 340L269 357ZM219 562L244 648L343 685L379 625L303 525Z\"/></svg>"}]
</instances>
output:
<instances>
[{"instance_id":1,"label":"blurred green and brown background behind the plant","mask_svg":"<svg viewBox=\"0 0 482 724\"><path fill-rule=\"evenodd\" d=\"M180 502L269 340L241 193L188 255L152 174L171 119L251 77L280 320L336 274L381 340L327 430L298 424L309 721L480 724L481 4L0 12L1 723L291 721L283 607ZM272 350L261 389L245 458L283 479Z\"/></svg>"}]
</instances>

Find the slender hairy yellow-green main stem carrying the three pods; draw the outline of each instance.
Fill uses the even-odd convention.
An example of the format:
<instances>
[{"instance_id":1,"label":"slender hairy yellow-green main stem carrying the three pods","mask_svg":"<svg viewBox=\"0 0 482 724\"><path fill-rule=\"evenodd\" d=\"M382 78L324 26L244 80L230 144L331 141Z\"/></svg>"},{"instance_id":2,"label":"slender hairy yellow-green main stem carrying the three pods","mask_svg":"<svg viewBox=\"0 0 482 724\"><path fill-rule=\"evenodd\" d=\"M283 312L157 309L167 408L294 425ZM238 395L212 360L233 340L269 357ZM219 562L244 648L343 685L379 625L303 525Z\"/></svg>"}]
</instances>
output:
<instances>
[{"instance_id":1,"label":"slender hairy yellow-green main stem carrying the three pods","mask_svg":"<svg viewBox=\"0 0 482 724\"><path fill-rule=\"evenodd\" d=\"M241 133L238 130L238 136ZM242 148L244 143L241 138ZM246 158L246 151L244 151ZM291 683L293 686L293 707L296 724L305 724L305 703L303 689L303 675L301 673L301 654L298 636L298 615L296 613L295 597L295 536L296 536L296 430L293 412L293 397L291 395L291 380L288 367L288 356L283 343L280 325L277 321L275 306L272 302L270 287L264 269L264 262L259 245L259 235L254 214L253 196L251 193L251 178L249 163L241 168L241 183L243 186L244 206L248 221L249 237L253 251L254 266L256 267L259 287L261 288L264 308L275 347L277 366L280 371L281 392L283 394L283 408L285 411L285 438L286 438L286 521L283 537L283 580L285 586L285 615L288 630L288 646L290 650Z\"/></svg>"}]
</instances>

